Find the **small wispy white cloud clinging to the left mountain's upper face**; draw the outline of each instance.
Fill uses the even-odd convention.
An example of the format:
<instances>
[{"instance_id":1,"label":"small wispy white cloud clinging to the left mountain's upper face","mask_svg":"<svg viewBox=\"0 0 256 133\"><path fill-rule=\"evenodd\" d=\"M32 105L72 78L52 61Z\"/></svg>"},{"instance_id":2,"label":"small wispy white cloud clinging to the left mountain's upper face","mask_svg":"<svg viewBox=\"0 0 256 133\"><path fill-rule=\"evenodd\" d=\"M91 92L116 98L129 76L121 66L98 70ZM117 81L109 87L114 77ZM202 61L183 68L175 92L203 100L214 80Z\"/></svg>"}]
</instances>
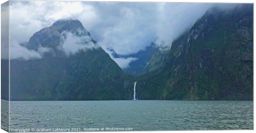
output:
<instances>
[{"instance_id":1,"label":"small wispy white cloud clinging to the left mountain's upper face","mask_svg":"<svg viewBox=\"0 0 256 133\"><path fill-rule=\"evenodd\" d=\"M60 34L59 49L63 50L66 55L76 54L81 50L99 48L97 44L92 42L90 36L77 36L71 32L64 31Z\"/></svg>"}]
</instances>

